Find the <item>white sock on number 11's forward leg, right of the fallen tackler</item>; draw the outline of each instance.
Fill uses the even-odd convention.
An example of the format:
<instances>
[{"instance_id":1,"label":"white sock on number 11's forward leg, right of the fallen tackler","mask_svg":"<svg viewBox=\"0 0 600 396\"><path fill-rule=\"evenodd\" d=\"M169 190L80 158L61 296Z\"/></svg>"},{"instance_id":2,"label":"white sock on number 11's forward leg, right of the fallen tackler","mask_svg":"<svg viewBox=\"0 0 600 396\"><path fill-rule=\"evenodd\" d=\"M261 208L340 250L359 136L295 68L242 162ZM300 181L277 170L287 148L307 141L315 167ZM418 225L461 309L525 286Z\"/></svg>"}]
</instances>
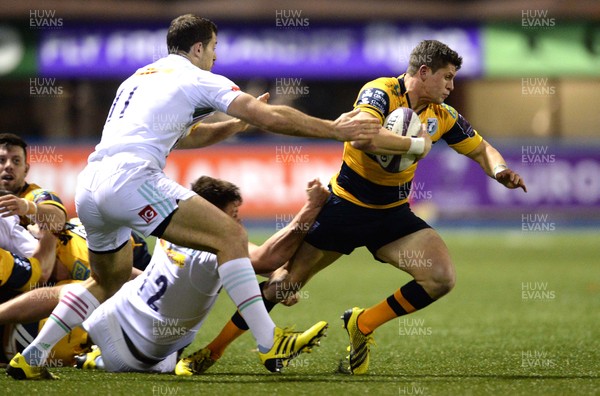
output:
<instances>
[{"instance_id":1,"label":"white sock on number 11's forward leg, right of the fallen tackler","mask_svg":"<svg viewBox=\"0 0 600 396\"><path fill-rule=\"evenodd\" d=\"M239 258L219 266L223 287L248 324L258 349L266 352L273 346L275 323L269 316L260 294L254 268L249 258Z\"/></svg>"}]
</instances>

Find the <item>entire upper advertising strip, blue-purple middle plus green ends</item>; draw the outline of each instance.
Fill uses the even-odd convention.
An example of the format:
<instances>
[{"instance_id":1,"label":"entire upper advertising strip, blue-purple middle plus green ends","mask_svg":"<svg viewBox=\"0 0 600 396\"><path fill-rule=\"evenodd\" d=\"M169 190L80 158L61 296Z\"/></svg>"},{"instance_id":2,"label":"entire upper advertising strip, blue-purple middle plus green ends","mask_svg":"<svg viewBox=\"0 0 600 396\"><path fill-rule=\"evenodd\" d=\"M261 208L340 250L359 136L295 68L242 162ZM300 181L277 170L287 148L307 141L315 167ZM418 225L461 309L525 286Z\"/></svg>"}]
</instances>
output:
<instances>
[{"instance_id":1,"label":"entire upper advertising strip, blue-purple middle plus green ends","mask_svg":"<svg viewBox=\"0 0 600 396\"><path fill-rule=\"evenodd\" d=\"M459 77L599 76L600 25L523 10L507 23L314 23L281 15L274 23L219 23L213 71L232 79L302 77L367 80L405 71L423 39L464 59ZM35 22L35 19L34 19ZM0 23L0 77L122 79L166 55L168 21ZM557 61L560 60L560 61Z\"/></svg>"}]
</instances>

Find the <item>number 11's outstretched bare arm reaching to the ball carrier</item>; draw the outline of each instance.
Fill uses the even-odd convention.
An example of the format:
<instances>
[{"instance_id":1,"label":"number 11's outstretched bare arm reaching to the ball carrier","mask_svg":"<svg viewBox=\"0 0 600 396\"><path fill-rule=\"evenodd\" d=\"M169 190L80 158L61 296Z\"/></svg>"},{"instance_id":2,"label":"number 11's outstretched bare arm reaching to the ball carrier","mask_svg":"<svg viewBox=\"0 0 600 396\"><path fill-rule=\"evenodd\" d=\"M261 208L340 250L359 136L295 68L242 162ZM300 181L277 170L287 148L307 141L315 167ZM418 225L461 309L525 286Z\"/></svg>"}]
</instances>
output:
<instances>
[{"instance_id":1,"label":"number 11's outstretched bare arm reaching to the ball carrier","mask_svg":"<svg viewBox=\"0 0 600 396\"><path fill-rule=\"evenodd\" d=\"M340 115L335 121L311 117L289 106L272 106L242 93L231 102L227 114L259 128L290 136L363 140L379 133L378 120L354 119L358 110Z\"/></svg>"}]
</instances>

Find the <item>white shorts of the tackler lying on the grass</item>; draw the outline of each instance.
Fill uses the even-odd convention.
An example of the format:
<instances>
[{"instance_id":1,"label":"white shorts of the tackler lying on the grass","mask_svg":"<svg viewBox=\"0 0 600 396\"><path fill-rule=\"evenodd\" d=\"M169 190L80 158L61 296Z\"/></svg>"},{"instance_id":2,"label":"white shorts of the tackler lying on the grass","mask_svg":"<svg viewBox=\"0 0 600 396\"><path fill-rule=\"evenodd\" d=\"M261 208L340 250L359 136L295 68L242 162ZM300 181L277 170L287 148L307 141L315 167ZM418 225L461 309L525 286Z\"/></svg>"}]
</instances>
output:
<instances>
[{"instance_id":1,"label":"white shorts of the tackler lying on the grass","mask_svg":"<svg viewBox=\"0 0 600 396\"><path fill-rule=\"evenodd\" d=\"M102 352L104 368L110 372L157 372L172 373L177 364L177 352L157 364L139 361L130 352L123 330L116 316L111 313L112 304L100 305L83 323L94 344ZM135 342L135 340L133 340Z\"/></svg>"}]
</instances>

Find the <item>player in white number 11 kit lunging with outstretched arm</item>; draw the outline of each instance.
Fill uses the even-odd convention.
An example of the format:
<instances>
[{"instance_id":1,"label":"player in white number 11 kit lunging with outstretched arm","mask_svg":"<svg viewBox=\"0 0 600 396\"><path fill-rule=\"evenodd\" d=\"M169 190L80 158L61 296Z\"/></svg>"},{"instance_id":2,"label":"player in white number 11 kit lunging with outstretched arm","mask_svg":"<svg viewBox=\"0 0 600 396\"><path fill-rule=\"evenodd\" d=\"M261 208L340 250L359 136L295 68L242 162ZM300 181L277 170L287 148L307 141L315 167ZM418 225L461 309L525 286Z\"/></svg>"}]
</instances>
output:
<instances>
[{"instance_id":1,"label":"player in white number 11 kit lunging with outstretched arm","mask_svg":"<svg viewBox=\"0 0 600 396\"><path fill-rule=\"evenodd\" d=\"M163 173L176 146L214 144L247 124L275 133L363 141L379 132L377 120L335 121L271 106L210 72L216 60L217 28L195 15L175 18L167 33L169 55L125 80L112 103L102 139L77 182L75 204L87 230L92 276L69 285L36 339L16 355L7 374L15 379L50 379L43 367L49 351L88 318L131 274L131 229L217 256L224 288L258 344L263 363L293 356L323 329L291 333L276 327L264 305L248 258L245 230L231 217ZM267 95L268 96L268 95ZM266 96L263 97L266 100ZM236 120L198 126L213 111ZM201 155L201 154L199 154ZM161 285L149 284L155 292ZM326 325L325 325L326 326Z\"/></svg>"}]
</instances>

